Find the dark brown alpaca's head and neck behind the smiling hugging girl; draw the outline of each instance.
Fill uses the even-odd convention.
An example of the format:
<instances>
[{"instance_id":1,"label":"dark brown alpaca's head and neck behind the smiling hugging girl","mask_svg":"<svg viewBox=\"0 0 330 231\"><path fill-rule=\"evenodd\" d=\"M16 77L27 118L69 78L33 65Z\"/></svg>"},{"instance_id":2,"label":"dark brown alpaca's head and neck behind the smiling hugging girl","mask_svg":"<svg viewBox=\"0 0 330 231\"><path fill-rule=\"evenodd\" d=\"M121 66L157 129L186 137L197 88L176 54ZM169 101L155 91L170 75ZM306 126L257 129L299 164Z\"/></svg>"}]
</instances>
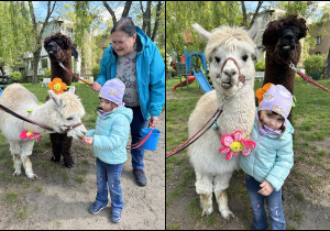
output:
<instances>
[{"instance_id":1,"label":"dark brown alpaca's head and neck behind the smiling hugging girl","mask_svg":"<svg viewBox=\"0 0 330 231\"><path fill-rule=\"evenodd\" d=\"M298 18L297 14L289 14L268 23L263 34L263 45L266 48L263 85L283 85L294 94L296 73L287 63L293 62L297 66L301 54L299 40L306 36L307 31L305 19ZM288 119L292 122L292 113Z\"/></svg>"}]
</instances>

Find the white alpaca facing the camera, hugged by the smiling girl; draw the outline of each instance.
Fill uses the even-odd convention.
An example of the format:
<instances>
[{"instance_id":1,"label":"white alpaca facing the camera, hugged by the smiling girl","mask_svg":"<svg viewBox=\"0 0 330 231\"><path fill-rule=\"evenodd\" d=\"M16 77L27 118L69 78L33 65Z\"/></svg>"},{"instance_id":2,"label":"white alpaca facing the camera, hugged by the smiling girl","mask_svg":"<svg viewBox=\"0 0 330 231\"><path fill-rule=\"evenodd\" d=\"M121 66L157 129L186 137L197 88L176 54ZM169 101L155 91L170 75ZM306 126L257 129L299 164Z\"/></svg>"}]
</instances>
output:
<instances>
[{"instance_id":1,"label":"white alpaca facing the camera, hugged by the smiling girl","mask_svg":"<svg viewBox=\"0 0 330 231\"><path fill-rule=\"evenodd\" d=\"M195 134L222 105L223 112L217 120L221 134L241 131L243 139L249 136L255 117L253 89L255 70L251 55L255 51L253 40L261 22L258 19L249 32L241 28L221 26L210 33L197 23L193 25L208 41L205 54L210 64L215 90L205 94L197 102L188 121L189 136ZM229 57L234 58L238 66L232 59L227 59ZM244 82L239 80L239 73L245 77ZM220 147L222 147L221 138L213 130L208 130L189 146L188 153L196 172L195 185L197 194L200 195L202 216L209 216L213 210L213 191L221 216L230 220L234 215L228 207L224 190L229 186L232 173L240 169L240 156L227 161L226 155L219 153Z\"/></svg>"}]
</instances>

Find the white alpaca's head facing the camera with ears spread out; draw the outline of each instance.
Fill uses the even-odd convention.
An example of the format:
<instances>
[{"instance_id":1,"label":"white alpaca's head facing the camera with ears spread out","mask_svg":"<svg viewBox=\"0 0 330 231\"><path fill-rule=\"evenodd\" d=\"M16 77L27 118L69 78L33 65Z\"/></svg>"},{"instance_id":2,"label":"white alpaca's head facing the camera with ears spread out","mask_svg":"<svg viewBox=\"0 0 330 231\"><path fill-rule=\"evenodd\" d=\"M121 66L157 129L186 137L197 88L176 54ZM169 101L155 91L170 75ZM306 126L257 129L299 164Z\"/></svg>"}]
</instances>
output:
<instances>
[{"instance_id":1,"label":"white alpaca's head facing the camera with ears spread out","mask_svg":"<svg viewBox=\"0 0 330 231\"><path fill-rule=\"evenodd\" d=\"M207 32L200 25L194 24L194 29L207 40L205 50L206 58L210 64L210 77L216 90L231 96L243 86L239 81L239 74L245 77L244 84L254 82L254 64L252 55L255 52L253 40L261 26L261 19L248 32L242 28L221 26L212 32ZM235 59L237 64L227 58Z\"/></svg>"}]
</instances>

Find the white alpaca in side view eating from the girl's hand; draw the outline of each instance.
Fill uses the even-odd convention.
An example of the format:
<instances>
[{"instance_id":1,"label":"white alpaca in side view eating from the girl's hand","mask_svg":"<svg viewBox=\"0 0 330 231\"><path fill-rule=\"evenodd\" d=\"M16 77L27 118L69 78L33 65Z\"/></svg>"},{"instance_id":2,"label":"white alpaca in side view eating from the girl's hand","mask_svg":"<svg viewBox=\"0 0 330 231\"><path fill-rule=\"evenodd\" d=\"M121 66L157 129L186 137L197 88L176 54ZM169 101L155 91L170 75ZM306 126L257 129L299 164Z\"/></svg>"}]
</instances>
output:
<instances>
[{"instance_id":1,"label":"white alpaca in side view eating from the girl's hand","mask_svg":"<svg viewBox=\"0 0 330 231\"><path fill-rule=\"evenodd\" d=\"M0 105L22 117L53 128L54 132L63 132L68 127L81 122L81 118L85 114L80 99L74 95L74 92L75 87L72 87L68 91L61 95L55 95L53 90L48 90L51 100L38 106L38 101L32 92L20 84L13 84L3 90L0 97ZM33 111L29 114L28 110ZM31 179L37 178L37 175L33 173L32 163L30 161L35 139L21 140L20 134L22 131L41 134L51 133L51 131L24 122L1 110L0 130L7 138L11 154L13 155L13 166L15 169L13 175L19 176L21 174L21 165L23 164L26 176ZM86 128L81 124L68 131L67 135L74 139L81 139L86 135Z\"/></svg>"}]
</instances>

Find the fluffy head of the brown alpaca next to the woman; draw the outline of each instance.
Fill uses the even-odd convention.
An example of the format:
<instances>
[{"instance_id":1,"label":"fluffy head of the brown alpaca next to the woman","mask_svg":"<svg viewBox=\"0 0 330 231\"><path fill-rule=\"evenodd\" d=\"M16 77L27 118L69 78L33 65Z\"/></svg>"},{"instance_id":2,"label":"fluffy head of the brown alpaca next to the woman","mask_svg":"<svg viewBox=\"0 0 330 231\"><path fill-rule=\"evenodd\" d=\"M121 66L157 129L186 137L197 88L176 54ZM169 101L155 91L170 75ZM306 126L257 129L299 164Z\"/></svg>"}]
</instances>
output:
<instances>
[{"instance_id":1,"label":"fluffy head of the brown alpaca next to the woman","mask_svg":"<svg viewBox=\"0 0 330 231\"><path fill-rule=\"evenodd\" d=\"M78 53L72 44L73 42L68 36L58 32L45 38L44 48L47 51L51 59L65 63L70 62L72 56L76 59L78 58Z\"/></svg>"}]
</instances>

